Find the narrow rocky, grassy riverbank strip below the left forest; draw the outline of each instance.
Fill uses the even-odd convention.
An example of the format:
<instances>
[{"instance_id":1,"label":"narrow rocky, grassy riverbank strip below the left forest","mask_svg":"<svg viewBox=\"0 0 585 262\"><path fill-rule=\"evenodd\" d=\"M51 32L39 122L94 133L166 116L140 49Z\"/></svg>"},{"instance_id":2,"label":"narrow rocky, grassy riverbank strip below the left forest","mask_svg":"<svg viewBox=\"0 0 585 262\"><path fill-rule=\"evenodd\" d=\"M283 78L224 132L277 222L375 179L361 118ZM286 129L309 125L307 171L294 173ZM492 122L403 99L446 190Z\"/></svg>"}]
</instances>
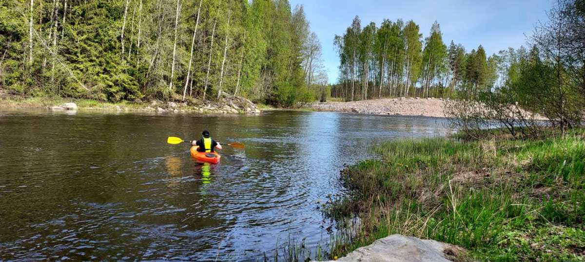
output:
<instances>
[{"instance_id":1,"label":"narrow rocky, grassy riverbank strip below the left forest","mask_svg":"<svg viewBox=\"0 0 585 262\"><path fill-rule=\"evenodd\" d=\"M171 113L210 113L210 114L257 114L270 110L270 106L257 106L250 100L228 94L214 102L201 100L180 100L163 102L150 100L149 102L117 103L101 102L94 99L68 99L64 97L25 97L9 95L0 89L0 107L25 107L65 110L59 108L65 103L75 103L77 110L105 110L105 111L159 111Z\"/></svg>"}]
</instances>

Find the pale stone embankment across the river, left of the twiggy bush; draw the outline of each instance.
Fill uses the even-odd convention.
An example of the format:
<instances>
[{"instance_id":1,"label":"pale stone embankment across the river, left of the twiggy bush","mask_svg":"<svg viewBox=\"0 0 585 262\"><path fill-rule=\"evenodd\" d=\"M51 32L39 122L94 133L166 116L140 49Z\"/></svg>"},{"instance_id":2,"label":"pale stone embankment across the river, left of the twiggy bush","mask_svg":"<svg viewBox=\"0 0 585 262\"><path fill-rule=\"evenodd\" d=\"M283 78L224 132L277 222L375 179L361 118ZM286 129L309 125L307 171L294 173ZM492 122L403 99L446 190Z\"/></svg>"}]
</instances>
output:
<instances>
[{"instance_id":1,"label":"pale stone embankment across the river, left of the twiggy bush","mask_svg":"<svg viewBox=\"0 0 585 262\"><path fill-rule=\"evenodd\" d=\"M445 100L437 98L400 97L355 102L308 103L305 107L319 111L336 111L359 114L383 114L396 116L445 117Z\"/></svg>"}]
</instances>

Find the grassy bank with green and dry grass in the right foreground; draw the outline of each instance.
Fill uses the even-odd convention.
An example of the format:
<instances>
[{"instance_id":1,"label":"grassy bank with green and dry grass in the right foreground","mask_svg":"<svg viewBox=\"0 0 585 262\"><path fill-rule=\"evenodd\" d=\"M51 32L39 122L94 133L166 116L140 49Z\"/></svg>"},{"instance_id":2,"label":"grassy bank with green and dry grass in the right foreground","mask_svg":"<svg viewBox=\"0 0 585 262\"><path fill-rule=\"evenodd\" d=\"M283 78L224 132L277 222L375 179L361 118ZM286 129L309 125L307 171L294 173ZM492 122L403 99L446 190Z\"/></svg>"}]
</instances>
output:
<instances>
[{"instance_id":1,"label":"grassy bank with green and dry grass in the right foreground","mask_svg":"<svg viewBox=\"0 0 585 262\"><path fill-rule=\"evenodd\" d=\"M354 193L324 206L338 221L361 220L331 254L400 233L456 244L477 260L585 260L582 135L393 141L373 151L381 159L342 172Z\"/></svg>"}]
</instances>

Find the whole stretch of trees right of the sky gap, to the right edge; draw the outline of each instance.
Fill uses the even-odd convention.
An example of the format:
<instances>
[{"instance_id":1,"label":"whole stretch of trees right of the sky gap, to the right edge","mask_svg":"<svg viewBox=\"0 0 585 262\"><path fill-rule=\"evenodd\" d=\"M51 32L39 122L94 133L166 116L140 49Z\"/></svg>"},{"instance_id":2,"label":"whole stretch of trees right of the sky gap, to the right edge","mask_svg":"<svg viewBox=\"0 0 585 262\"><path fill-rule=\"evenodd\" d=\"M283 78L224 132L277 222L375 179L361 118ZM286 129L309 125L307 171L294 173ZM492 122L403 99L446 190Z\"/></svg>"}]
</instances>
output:
<instances>
[{"instance_id":1,"label":"whole stretch of trees right of the sky gap, to the right edge","mask_svg":"<svg viewBox=\"0 0 585 262\"><path fill-rule=\"evenodd\" d=\"M340 70L331 95L346 101L449 97L486 102L486 97L499 94L508 99L500 103L524 102L526 109L538 113L542 110L535 105L555 100L565 105L550 107L576 114L583 109L578 104L585 102L584 3L556 2L548 22L535 21L534 32L527 36L529 48L492 55L481 45L471 51L454 41L447 45L438 22L423 39L412 20L386 19L379 27L373 22L362 27L356 16L335 36Z\"/></svg>"}]
</instances>

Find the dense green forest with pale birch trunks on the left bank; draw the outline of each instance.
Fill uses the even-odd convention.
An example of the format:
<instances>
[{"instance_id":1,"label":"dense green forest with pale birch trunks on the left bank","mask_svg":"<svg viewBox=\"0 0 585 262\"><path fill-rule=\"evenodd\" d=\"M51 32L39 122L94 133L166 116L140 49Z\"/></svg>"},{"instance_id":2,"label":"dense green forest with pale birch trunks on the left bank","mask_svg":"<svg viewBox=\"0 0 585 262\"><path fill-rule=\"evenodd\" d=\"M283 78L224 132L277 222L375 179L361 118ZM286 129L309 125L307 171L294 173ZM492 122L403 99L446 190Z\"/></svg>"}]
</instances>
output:
<instances>
[{"instance_id":1,"label":"dense green forest with pale birch trunks on the left bank","mask_svg":"<svg viewBox=\"0 0 585 262\"><path fill-rule=\"evenodd\" d=\"M0 55L0 88L37 97L291 106L327 79L287 0L6 0Z\"/></svg>"}]
</instances>

